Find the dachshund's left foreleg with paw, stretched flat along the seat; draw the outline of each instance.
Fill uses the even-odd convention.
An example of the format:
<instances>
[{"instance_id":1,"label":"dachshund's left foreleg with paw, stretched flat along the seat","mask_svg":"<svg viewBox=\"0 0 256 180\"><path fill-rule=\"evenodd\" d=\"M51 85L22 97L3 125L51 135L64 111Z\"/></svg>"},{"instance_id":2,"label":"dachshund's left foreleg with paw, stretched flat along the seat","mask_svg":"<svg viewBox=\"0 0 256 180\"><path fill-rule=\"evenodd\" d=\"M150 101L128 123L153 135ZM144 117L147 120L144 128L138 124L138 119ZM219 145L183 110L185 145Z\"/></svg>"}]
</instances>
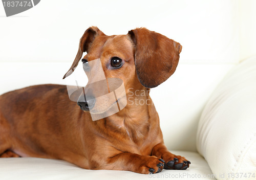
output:
<instances>
[{"instance_id":1,"label":"dachshund's left foreleg with paw, stretched flat along the seat","mask_svg":"<svg viewBox=\"0 0 256 180\"><path fill-rule=\"evenodd\" d=\"M109 158L108 165L103 168L149 174L161 172L163 166L164 161L154 155L139 155L130 152L122 152Z\"/></svg>"}]
</instances>

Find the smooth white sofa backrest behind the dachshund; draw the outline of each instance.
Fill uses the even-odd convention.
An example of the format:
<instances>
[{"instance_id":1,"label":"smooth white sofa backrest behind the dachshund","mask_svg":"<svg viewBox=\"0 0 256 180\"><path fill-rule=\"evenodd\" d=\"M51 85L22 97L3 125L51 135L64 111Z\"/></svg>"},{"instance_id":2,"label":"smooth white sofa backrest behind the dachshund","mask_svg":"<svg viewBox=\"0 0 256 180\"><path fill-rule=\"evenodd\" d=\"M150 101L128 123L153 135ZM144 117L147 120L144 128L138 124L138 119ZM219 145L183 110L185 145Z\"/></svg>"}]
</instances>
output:
<instances>
[{"instance_id":1,"label":"smooth white sofa backrest behind the dachshund","mask_svg":"<svg viewBox=\"0 0 256 180\"><path fill-rule=\"evenodd\" d=\"M146 27L183 46L176 73L151 94L168 148L196 151L197 122L211 92L230 68L256 54L255 9L249 0L44 0L6 17L0 5L0 94L63 84L90 26L107 35Z\"/></svg>"}]
</instances>

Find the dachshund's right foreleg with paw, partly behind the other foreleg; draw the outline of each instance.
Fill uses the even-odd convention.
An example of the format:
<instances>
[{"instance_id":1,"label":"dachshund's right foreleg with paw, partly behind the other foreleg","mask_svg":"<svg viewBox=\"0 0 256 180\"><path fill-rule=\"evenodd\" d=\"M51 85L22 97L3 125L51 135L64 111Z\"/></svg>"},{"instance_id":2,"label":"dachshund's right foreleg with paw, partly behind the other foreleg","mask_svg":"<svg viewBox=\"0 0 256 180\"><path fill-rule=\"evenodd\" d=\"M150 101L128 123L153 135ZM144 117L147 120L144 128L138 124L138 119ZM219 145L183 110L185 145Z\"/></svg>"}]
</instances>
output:
<instances>
[{"instance_id":1,"label":"dachshund's right foreleg with paw, partly behind the other foreleg","mask_svg":"<svg viewBox=\"0 0 256 180\"><path fill-rule=\"evenodd\" d=\"M152 149L152 155L164 160L164 169L187 169L190 161L187 161L183 156L170 153L164 143L159 143Z\"/></svg>"}]
</instances>

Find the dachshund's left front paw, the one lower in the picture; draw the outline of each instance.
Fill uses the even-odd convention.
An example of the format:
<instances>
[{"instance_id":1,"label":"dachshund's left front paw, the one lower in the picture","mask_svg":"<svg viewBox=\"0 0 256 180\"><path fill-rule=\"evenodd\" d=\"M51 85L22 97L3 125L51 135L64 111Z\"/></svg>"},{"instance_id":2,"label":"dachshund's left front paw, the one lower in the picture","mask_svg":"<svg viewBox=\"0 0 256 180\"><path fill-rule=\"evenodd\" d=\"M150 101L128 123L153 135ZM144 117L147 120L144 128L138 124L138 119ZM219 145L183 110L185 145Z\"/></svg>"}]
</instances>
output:
<instances>
[{"instance_id":1,"label":"dachshund's left front paw, the one lower in the picture","mask_svg":"<svg viewBox=\"0 0 256 180\"><path fill-rule=\"evenodd\" d=\"M156 156L147 156L139 165L138 172L142 174L155 174L163 170L164 160Z\"/></svg>"}]
</instances>

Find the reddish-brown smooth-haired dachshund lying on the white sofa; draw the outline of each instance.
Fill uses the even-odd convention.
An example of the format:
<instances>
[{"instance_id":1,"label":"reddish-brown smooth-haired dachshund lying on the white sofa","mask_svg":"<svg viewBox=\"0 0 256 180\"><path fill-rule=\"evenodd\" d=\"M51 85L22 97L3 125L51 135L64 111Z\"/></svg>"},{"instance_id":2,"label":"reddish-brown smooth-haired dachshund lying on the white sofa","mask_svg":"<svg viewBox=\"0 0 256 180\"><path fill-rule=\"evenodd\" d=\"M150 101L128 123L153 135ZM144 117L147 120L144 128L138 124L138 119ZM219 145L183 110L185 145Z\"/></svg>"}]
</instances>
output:
<instances>
[{"instance_id":1,"label":"reddish-brown smooth-haired dachshund lying on the white sofa","mask_svg":"<svg viewBox=\"0 0 256 180\"><path fill-rule=\"evenodd\" d=\"M163 143L159 117L147 92L171 76L182 46L139 28L106 36L91 27L80 39L70 68L100 58L106 78L123 80L129 101L118 113L92 121L86 101L70 101L63 85L37 85L0 96L0 156L61 159L85 169L158 173L187 169L190 162L170 153ZM67 74L64 76L64 78ZM131 90L132 89L132 90ZM135 93L137 91L137 93ZM128 97L128 96L127 96Z\"/></svg>"}]
</instances>

